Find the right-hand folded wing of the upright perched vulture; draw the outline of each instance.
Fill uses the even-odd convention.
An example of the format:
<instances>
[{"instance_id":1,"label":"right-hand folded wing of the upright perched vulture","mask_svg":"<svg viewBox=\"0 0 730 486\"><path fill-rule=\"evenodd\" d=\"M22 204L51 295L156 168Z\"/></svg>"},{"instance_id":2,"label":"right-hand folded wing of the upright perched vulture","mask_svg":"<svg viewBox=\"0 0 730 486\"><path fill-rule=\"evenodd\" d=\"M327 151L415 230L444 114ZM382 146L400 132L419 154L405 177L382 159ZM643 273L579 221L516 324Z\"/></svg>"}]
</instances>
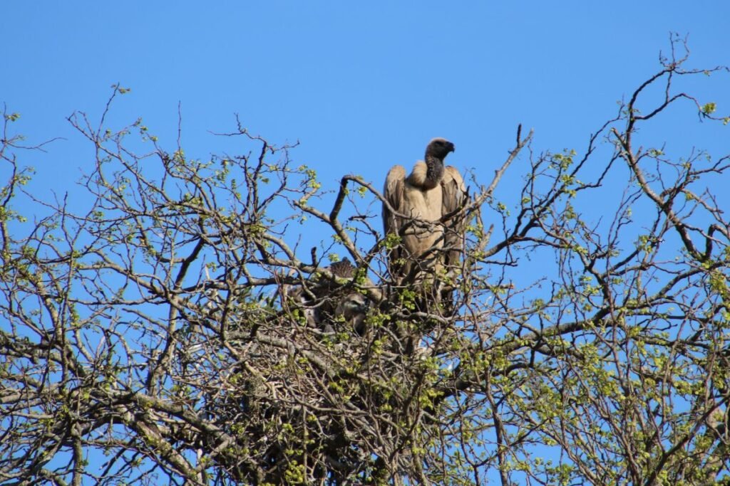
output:
<instances>
[{"instance_id":1,"label":"right-hand folded wing of the upright perched vulture","mask_svg":"<svg viewBox=\"0 0 730 486\"><path fill-rule=\"evenodd\" d=\"M444 171L444 178L441 181L442 214L452 213L464 206L466 203L466 187L464 179L456 168L448 166ZM458 265L461 251L463 250L464 238L464 215L453 216L444 222L444 248L449 248L444 256L445 267Z\"/></svg>"}]
</instances>

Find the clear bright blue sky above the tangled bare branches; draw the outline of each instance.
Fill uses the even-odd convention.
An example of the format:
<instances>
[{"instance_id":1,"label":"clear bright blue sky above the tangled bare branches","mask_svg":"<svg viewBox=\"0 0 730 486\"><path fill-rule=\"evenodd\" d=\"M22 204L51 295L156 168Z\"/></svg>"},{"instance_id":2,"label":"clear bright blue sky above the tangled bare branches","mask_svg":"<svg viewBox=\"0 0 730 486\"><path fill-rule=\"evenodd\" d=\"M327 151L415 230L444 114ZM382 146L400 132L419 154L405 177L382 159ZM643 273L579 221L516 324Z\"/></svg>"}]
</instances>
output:
<instances>
[{"instance_id":1,"label":"clear bright blue sky above the tangled bare branches","mask_svg":"<svg viewBox=\"0 0 730 486\"><path fill-rule=\"evenodd\" d=\"M208 130L233 130L237 113L274 143L300 141L294 161L325 187L348 172L380 187L434 136L456 144L451 164L486 182L520 122L538 152L583 148L658 69L669 31L689 35L691 66L730 64L728 19L728 1L5 0L0 103L20 112L30 142L66 138L23 154L41 197L90 170L90 147L65 117L98 117L116 82L132 91L115 122L141 116L173 149L180 102L196 157L221 151ZM702 101L730 111L727 85L708 82ZM661 136L721 141L691 125Z\"/></svg>"}]
</instances>

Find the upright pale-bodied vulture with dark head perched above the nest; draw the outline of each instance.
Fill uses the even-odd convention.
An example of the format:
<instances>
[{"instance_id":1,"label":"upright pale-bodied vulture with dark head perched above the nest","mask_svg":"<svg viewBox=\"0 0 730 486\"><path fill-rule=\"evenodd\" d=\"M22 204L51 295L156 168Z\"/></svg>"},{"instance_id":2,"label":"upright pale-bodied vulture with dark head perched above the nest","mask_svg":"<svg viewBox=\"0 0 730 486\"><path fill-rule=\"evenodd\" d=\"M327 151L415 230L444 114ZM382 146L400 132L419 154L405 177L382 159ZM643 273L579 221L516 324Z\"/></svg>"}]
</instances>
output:
<instances>
[{"instance_id":1,"label":"upright pale-bodied vulture with dark head perched above the nest","mask_svg":"<svg viewBox=\"0 0 730 486\"><path fill-rule=\"evenodd\" d=\"M410 175L394 165L385 178L383 226L385 235L398 235L401 243L388 254L391 278L405 278L412 270L449 269L457 265L464 232L463 218L439 222L466 201L464 179L456 168L444 166L454 144L434 138L426 146L425 160L415 163ZM396 211L393 213L391 208Z\"/></svg>"}]
</instances>

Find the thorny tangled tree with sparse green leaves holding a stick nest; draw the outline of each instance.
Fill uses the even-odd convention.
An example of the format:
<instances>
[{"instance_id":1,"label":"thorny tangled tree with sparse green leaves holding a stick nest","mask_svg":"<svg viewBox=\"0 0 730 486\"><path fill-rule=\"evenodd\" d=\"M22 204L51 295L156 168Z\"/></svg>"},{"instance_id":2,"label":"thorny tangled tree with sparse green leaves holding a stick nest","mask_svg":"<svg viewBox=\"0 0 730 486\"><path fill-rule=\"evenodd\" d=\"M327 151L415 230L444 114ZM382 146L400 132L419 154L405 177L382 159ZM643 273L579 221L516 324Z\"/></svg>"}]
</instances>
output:
<instances>
[{"instance_id":1,"label":"thorny tangled tree with sparse green leaves holding a stick nest","mask_svg":"<svg viewBox=\"0 0 730 486\"><path fill-rule=\"evenodd\" d=\"M455 305L391 281L399 242L361 210L383 201L372 184L344 176L325 207L291 146L239 125L226 136L250 152L193 160L141 120L109 128L114 87L101 123L69 118L96 150L76 211L24 189L6 111L0 481L727 482L730 222L711 188L730 156L674 157L639 131L670 106L728 122L675 87L727 72L685 52L673 39L583 152L535 154L518 129L441 222L469 224L460 271L437 275ZM291 234L314 222L331 243L302 257ZM351 278L323 262L336 251ZM352 295L361 326L337 310Z\"/></svg>"}]
</instances>

